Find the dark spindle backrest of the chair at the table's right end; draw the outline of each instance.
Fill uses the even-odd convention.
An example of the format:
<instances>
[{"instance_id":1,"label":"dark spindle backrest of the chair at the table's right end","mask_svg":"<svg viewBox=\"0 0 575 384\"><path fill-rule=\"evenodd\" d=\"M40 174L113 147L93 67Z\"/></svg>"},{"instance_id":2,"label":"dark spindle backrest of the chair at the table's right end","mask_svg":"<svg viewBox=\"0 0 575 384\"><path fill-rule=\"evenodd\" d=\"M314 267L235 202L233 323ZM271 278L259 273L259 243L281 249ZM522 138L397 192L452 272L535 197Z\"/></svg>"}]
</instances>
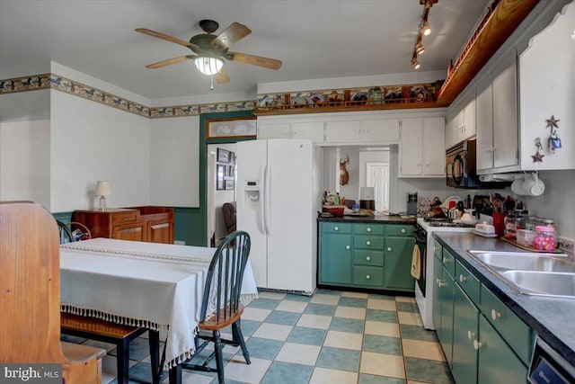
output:
<instances>
[{"instance_id":1,"label":"dark spindle backrest of the chair at the table's right end","mask_svg":"<svg viewBox=\"0 0 575 384\"><path fill-rule=\"evenodd\" d=\"M247 232L235 231L217 247L209 264L200 323L215 315L217 321L231 317L242 293L243 271L251 247Z\"/></svg>"}]
</instances>

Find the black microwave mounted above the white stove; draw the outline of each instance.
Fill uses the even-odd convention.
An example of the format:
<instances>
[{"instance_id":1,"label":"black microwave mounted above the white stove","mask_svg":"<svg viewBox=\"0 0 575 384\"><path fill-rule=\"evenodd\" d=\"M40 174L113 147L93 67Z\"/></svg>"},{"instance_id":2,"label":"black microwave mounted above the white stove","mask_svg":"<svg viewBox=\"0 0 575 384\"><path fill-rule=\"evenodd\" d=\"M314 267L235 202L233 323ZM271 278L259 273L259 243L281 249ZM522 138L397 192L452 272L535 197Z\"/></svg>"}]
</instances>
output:
<instances>
[{"instance_id":1,"label":"black microwave mounted above the white stove","mask_svg":"<svg viewBox=\"0 0 575 384\"><path fill-rule=\"evenodd\" d=\"M475 168L475 139L464 140L447 148L447 186L453 188L504 188L509 183L482 182Z\"/></svg>"}]
</instances>

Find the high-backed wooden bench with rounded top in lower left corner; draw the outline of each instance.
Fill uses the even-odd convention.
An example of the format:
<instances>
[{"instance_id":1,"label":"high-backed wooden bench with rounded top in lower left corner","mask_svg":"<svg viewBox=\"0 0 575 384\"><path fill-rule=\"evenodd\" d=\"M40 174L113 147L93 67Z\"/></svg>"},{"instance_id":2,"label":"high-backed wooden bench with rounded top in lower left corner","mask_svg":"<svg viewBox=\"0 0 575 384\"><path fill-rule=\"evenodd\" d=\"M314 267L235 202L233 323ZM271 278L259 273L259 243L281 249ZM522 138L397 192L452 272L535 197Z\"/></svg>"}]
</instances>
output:
<instances>
[{"instance_id":1,"label":"high-backed wooden bench with rounded top in lower left corner","mask_svg":"<svg viewBox=\"0 0 575 384\"><path fill-rule=\"evenodd\" d=\"M0 202L0 362L62 364L68 384L100 384L105 351L60 343L60 250L49 211Z\"/></svg>"}]
</instances>

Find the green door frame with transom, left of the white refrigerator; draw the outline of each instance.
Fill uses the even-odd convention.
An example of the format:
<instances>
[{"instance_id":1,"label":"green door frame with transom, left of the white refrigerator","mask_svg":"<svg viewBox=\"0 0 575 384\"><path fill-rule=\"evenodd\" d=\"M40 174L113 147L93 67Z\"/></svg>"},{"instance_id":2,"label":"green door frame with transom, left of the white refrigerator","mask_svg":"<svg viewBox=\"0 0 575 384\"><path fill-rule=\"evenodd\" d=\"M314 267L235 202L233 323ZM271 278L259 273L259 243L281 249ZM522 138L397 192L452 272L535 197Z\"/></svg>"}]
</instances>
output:
<instances>
[{"instance_id":1,"label":"green door frame with transom, left of the white refrigerator","mask_svg":"<svg viewBox=\"0 0 575 384\"><path fill-rule=\"evenodd\" d=\"M208 175L206 174L206 165L208 164L208 145L209 144L226 144L236 143L238 141L252 140L252 137L246 138L208 138L206 135L208 121L231 120L234 118L253 117L252 110L239 112L217 112L202 113L199 115L199 231L201 233L201 244L199 246L208 246Z\"/></svg>"}]
</instances>

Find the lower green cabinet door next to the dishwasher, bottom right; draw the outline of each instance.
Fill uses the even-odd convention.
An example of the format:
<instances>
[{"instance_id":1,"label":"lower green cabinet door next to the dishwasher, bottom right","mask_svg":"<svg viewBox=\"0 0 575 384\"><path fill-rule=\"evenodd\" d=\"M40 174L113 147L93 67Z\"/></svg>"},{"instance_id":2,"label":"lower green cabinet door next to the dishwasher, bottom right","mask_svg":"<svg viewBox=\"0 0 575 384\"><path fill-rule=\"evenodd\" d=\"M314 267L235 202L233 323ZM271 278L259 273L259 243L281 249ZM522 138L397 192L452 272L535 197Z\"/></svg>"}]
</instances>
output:
<instances>
[{"instance_id":1,"label":"lower green cabinet door next to the dishwasher, bottom right","mask_svg":"<svg viewBox=\"0 0 575 384\"><path fill-rule=\"evenodd\" d=\"M479 317L477 382L526 383L527 368L485 317Z\"/></svg>"}]
</instances>

